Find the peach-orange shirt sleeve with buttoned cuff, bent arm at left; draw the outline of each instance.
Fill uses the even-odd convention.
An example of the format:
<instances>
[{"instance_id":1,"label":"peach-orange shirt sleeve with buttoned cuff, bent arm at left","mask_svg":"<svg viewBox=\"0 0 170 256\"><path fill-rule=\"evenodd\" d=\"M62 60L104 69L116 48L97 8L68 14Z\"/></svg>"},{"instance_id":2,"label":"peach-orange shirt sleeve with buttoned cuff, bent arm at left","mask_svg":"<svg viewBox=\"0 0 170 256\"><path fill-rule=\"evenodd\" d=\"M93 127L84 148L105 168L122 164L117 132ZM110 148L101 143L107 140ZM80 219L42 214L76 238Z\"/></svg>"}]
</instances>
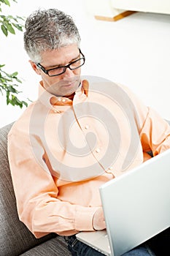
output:
<instances>
[{"instance_id":1,"label":"peach-orange shirt sleeve with buttoned cuff, bent arm at left","mask_svg":"<svg viewBox=\"0 0 170 256\"><path fill-rule=\"evenodd\" d=\"M58 200L58 187L43 159L39 140L34 143L22 132L8 136L9 166L17 201L18 216L36 238L47 233L70 236L80 230L93 230L93 214L98 207L84 207Z\"/></svg>"}]
</instances>

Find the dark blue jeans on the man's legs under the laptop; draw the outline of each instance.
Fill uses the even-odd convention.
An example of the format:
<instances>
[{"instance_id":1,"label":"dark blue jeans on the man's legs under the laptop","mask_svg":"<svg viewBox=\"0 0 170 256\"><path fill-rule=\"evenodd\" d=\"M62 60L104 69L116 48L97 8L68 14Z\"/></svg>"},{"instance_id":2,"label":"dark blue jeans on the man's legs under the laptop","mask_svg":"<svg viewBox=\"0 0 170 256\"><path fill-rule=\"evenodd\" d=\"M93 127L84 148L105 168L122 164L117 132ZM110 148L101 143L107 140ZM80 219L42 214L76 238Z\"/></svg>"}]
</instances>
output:
<instances>
[{"instance_id":1,"label":"dark blue jeans on the man's legs under the laptop","mask_svg":"<svg viewBox=\"0 0 170 256\"><path fill-rule=\"evenodd\" d=\"M77 240L76 236L66 236L65 240L68 244L68 249L72 252L72 256L104 256L101 252L96 251L92 247ZM154 256L148 246L141 245L126 252L123 256Z\"/></svg>"}]
</instances>

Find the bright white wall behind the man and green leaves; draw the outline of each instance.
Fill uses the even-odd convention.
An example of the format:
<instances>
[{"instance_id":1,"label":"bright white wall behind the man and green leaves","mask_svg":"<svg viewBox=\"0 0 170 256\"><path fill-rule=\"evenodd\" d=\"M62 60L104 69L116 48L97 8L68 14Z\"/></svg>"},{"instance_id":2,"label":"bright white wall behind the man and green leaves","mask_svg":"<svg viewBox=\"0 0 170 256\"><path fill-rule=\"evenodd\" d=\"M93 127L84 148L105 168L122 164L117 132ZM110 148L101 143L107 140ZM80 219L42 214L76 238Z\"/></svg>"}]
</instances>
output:
<instances>
[{"instance_id":1,"label":"bright white wall behind the man and green leaves","mask_svg":"<svg viewBox=\"0 0 170 256\"><path fill-rule=\"evenodd\" d=\"M100 0L99 0L100 1ZM39 7L56 7L72 15L82 36L86 56L82 75L96 75L130 87L144 103L170 119L169 59L170 15L137 12L117 22L95 20L93 1L23 1L6 7L7 13L27 16ZM5 13L4 13L5 14ZM39 76L28 64L23 50L23 34L1 37L1 64L18 71L23 97L36 99ZM7 106L0 96L0 127L15 121L24 109Z\"/></svg>"}]
</instances>

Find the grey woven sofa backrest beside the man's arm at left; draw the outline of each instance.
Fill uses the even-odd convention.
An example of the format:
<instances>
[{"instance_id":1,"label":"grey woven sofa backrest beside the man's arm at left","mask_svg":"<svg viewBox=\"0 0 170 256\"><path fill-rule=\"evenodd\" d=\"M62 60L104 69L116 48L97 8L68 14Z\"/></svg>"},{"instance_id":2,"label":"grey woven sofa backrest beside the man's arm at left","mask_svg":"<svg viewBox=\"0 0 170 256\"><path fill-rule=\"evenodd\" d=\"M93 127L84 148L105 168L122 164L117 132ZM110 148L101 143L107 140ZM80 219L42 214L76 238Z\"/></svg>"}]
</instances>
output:
<instances>
[{"instance_id":1,"label":"grey woven sofa backrest beside the man's arm at left","mask_svg":"<svg viewBox=\"0 0 170 256\"><path fill-rule=\"evenodd\" d=\"M7 133L12 124L0 129L0 255L15 256L50 238L54 233L36 239L18 219L15 194L7 157ZM17 138L16 138L17 139ZM40 254L39 254L40 255Z\"/></svg>"}]
</instances>

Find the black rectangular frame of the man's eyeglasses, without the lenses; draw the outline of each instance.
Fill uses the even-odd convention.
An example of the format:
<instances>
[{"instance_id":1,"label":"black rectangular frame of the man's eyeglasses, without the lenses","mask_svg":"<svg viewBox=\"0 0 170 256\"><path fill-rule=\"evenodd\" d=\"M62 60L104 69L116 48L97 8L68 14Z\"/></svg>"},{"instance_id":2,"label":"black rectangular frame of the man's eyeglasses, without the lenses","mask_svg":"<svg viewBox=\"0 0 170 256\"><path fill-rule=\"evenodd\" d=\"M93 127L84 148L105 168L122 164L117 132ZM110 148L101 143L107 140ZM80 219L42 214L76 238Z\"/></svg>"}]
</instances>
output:
<instances>
[{"instance_id":1,"label":"black rectangular frame of the man's eyeglasses, without the lenses","mask_svg":"<svg viewBox=\"0 0 170 256\"><path fill-rule=\"evenodd\" d=\"M85 56L84 56L84 54L81 52L80 49L79 49L79 51L80 51L80 54L82 54L82 58L77 59L77 60L75 60L75 61L72 61L72 62L70 62L70 63L69 63L68 65L66 65L66 66L60 66L60 67L54 67L54 68L53 68L53 69L61 69L61 68L63 68L63 72L61 72L61 73L58 74L58 75L62 75L63 73L65 73L67 68L69 68L70 70L79 69L80 67L82 67L82 65L85 64ZM80 61L81 59L83 59L84 62L83 62L79 67L74 67L73 69L70 67L72 64L74 64L74 63L77 62L77 61ZM53 70L53 69L45 69L45 67L43 67L40 63L36 64L36 67L39 67L39 69L42 69L42 71L45 72L45 74L48 75L48 76L50 76L50 77L58 76L58 75L49 75L48 72L49 72L50 70Z\"/></svg>"}]
</instances>

